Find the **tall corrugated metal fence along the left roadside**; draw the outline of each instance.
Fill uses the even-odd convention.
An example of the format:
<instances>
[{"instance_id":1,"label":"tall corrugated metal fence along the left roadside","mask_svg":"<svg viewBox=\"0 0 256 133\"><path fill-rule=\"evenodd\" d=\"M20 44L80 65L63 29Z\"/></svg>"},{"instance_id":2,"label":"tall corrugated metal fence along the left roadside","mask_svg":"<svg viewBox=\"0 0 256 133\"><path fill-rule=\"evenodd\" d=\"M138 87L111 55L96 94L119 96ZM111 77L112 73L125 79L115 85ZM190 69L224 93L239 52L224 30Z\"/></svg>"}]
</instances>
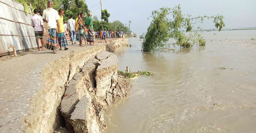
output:
<instances>
[{"instance_id":1,"label":"tall corrugated metal fence along the left roadside","mask_svg":"<svg viewBox=\"0 0 256 133\"><path fill-rule=\"evenodd\" d=\"M0 7L0 56L13 53L12 46L17 52L36 48L31 11L26 14L24 6L14 0L0 0Z\"/></svg>"}]
</instances>

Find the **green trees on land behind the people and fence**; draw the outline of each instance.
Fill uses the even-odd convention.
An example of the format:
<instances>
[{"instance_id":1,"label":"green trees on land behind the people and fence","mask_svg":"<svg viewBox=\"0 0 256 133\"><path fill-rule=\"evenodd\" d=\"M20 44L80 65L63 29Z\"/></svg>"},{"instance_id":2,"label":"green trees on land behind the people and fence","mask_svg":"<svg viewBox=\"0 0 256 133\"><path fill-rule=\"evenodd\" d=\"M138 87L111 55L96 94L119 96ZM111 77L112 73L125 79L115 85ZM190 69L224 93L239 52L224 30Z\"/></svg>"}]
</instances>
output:
<instances>
[{"instance_id":1,"label":"green trees on land behind the people and fence","mask_svg":"<svg viewBox=\"0 0 256 133\"><path fill-rule=\"evenodd\" d=\"M30 8L33 10L36 8L39 10L40 15L43 15L43 10L47 9L47 2L48 0L16 0L24 5L25 10L28 12L28 5L32 5ZM87 13L89 12L88 6L85 3L85 0L53 0L53 8L55 10L59 10L62 8L65 12L63 15L63 20L68 20L70 15L73 15L75 19L77 14L84 13L85 17L83 20L86 19ZM102 11L101 18L104 21L99 21L97 16L93 16L94 19L94 30L123 30L124 33L128 32L128 27L125 26L120 21L116 20L113 23L109 23L108 18L110 14L105 9Z\"/></svg>"}]
</instances>

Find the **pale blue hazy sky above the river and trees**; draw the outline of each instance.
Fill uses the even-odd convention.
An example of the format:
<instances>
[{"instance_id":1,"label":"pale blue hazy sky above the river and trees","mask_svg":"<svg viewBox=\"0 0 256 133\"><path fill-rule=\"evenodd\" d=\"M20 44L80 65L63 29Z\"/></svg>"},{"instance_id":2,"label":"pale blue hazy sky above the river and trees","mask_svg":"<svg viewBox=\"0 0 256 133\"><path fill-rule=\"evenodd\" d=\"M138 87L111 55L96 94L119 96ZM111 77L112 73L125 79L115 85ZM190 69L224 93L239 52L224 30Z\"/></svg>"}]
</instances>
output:
<instances>
[{"instance_id":1,"label":"pale blue hazy sky above the river and trees","mask_svg":"<svg viewBox=\"0 0 256 133\"><path fill-rule=\"evenodd\" d=\"M100 20L100 0L86 0L88 9ZM181 5L182 14L192 17L221 14L224 18L225 28L256 27L256 0L102 0L102 9L110 13L109 21L119 20L129 25L134 33L145 33L151 23L152 11L162 7L173 8ZM149 19L147 19L149 18ZM213 29L212 20L195 25L202 29Z\"/></svg>"}]
</instances>

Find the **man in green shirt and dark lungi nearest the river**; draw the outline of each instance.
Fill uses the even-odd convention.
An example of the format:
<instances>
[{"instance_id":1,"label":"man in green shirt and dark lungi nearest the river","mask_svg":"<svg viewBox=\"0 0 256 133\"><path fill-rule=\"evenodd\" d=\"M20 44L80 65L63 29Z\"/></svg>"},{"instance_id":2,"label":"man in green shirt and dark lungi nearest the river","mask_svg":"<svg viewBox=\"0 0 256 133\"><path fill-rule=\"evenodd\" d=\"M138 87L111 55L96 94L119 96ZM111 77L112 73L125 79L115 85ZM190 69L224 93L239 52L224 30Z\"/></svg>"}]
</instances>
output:
<instances>
[{"instance_id":1,"label":"man in green shirt and dark lungi nearest the river","mask_svg":"<svg viewBox=\"0 0 256 133\"><path fill-rule=\"evenodd\" d=\"M88 17L85 19L85 25L88 27L87 28L87 32L88 32L88 36L87 36L87 42L93 43L94 45L94 31L93 31L93 18L91 17L93 16L91 12L88 13Z\"/></svg>"}]
</instances>

